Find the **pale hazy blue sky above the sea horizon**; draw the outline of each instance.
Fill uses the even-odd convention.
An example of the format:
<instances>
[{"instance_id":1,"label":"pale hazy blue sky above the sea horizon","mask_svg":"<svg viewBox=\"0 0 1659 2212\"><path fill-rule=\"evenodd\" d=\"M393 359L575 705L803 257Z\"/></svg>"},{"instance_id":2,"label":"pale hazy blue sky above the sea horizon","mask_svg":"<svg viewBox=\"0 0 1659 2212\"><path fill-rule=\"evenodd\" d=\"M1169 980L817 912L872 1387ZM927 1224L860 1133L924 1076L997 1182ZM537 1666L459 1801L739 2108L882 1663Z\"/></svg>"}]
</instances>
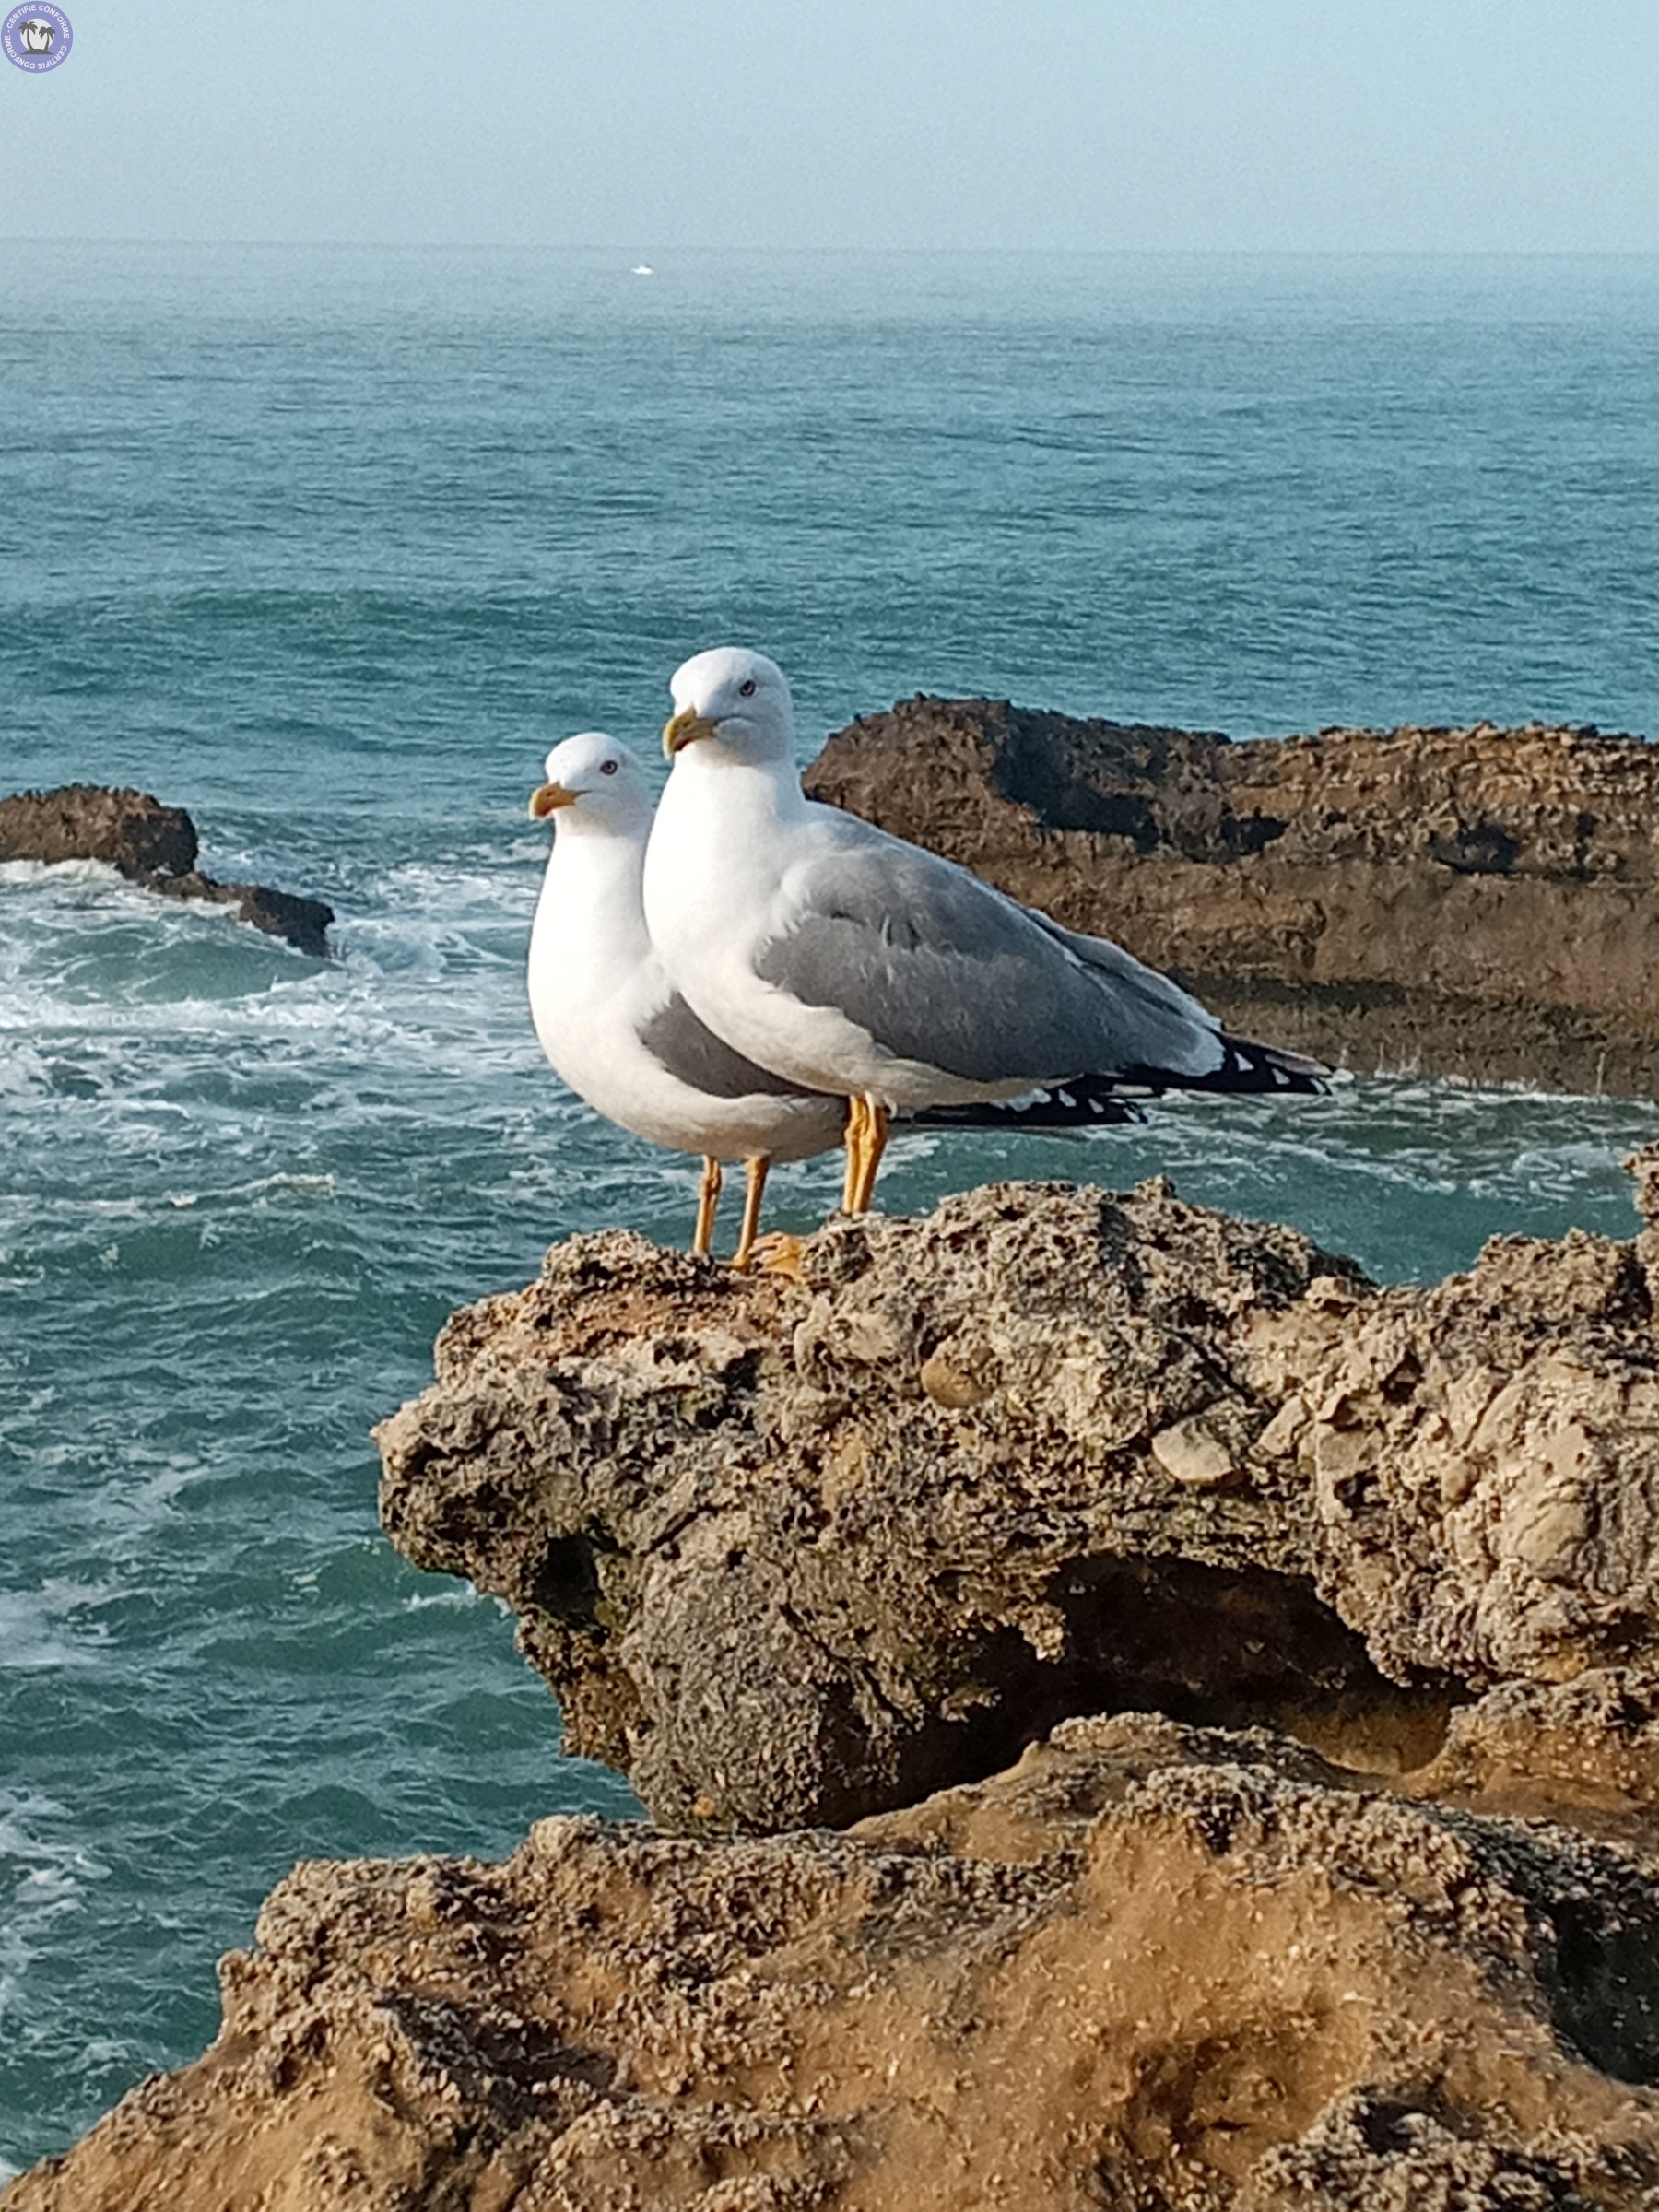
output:
<instances>
[{"instance_id":1,"label":"pale hazy blue sky above the sea horizon","mask_svg":"<svg viewBox=\"0 0 1659 2212\"><path fill-rule=\"evenodd\" d=\"M33 237L1659 250L1659 0L66 0Z\"/></svg>"}]
</instances>

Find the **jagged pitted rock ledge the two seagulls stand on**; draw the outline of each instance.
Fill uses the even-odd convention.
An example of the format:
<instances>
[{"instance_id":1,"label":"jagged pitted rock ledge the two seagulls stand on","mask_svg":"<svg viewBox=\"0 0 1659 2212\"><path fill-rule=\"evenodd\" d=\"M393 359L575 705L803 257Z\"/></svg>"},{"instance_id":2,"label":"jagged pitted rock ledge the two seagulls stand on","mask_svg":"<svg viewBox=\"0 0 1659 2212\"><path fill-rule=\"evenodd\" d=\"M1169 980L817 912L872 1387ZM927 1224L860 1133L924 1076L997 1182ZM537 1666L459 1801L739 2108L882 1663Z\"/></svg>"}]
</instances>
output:
<instances>
[{"instance_id":1,"label":"jagged pitted rock ledge the two seagulls stand on","mask_svg":"<svg viewBox=\"0 0 1659 2212\"><path fill-rule=\"evenodd\" d=\"M1411 1774L1504 1683L1652 1710L1652 1290L1579 1232L1376 1290L1168 1183L836 1221L799 1281L577 1237L449 1321L383 1522L666 1825L847 1823L1130 1708Z\"/></svg>"}]
</instances>

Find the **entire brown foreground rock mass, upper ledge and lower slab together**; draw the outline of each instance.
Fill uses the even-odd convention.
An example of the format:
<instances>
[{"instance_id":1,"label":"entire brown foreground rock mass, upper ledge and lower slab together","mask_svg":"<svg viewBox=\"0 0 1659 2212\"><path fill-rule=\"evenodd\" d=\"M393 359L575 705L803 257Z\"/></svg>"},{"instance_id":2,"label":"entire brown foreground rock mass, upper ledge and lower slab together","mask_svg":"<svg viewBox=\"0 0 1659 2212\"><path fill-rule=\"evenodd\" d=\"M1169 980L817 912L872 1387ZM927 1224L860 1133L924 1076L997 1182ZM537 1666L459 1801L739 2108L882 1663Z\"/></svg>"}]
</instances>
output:
<instances>
[{"instance_id":1,"label":"entire brown foreground rock mass, upper ledge and lower slab together","mask_svg":"<svg viewBox=\"0 0 1659 2212\"><path fill-rule=\"evenodd\" d=\"M1166 1183L555 1248L383 1517L664 1827L299 1867L4 2212L1655 2212L1632 1168L1429 1290Z\"/></svg>"}]
</instances>

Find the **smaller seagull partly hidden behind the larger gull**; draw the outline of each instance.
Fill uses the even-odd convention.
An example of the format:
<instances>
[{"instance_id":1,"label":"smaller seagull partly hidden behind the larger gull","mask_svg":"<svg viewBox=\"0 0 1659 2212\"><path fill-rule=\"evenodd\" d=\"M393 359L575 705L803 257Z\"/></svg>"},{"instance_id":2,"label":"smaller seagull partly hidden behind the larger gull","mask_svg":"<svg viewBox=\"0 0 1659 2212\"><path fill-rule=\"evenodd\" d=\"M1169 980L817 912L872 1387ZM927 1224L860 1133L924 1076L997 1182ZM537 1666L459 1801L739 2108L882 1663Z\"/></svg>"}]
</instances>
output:
<instances>
[{"instance_id":1,"label":"smaller seagull partly hidden behind the larger gull","mask_svg":"<svg viewBox=\"0 0 1659 2212\"><path fill-rule=\"evenodd\" d=\"M529 995L535 1035L580 1099L635 1137L699 1152L692 1252L708 1256L721 1164L743 1161L748 1267L774 1159L810 1159L843 1141L847 1102L754 1066L690 1011L650 947L639 876L650 787L639 761L602 730L546 757L531 814L553 816L553 852L535 902Z\"/></svg>"}]
</instances>

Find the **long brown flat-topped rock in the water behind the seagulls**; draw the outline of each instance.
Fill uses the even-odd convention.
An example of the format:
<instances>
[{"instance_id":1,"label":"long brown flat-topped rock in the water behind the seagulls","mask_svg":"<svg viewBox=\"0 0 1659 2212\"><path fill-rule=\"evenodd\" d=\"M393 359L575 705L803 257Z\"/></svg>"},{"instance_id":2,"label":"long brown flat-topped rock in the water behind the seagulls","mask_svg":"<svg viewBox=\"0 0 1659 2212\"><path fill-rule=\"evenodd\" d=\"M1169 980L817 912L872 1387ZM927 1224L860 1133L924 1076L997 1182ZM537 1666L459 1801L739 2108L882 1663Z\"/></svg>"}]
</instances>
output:
<instances>
[{"instance_id":1,"label":"long brown flat-topped rock in the water behind the seagulls","mask_svg":"<svg viewBox=\"0 0 1659 2212\"><path fill-rule=\"evenodd\" d=\"M1595 730L1214 732L909 699L818 799L1356 1071L1659 1095L1659 750Z\"/></svg>"}]
</instances>

